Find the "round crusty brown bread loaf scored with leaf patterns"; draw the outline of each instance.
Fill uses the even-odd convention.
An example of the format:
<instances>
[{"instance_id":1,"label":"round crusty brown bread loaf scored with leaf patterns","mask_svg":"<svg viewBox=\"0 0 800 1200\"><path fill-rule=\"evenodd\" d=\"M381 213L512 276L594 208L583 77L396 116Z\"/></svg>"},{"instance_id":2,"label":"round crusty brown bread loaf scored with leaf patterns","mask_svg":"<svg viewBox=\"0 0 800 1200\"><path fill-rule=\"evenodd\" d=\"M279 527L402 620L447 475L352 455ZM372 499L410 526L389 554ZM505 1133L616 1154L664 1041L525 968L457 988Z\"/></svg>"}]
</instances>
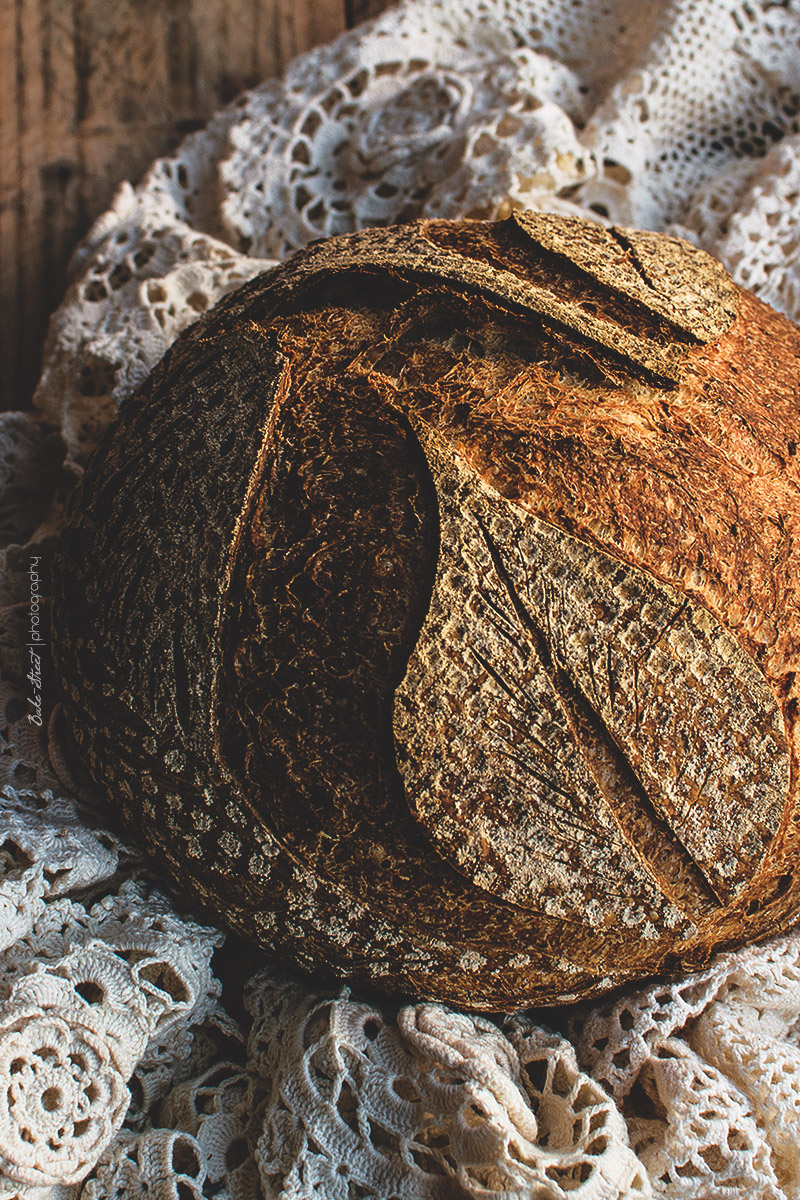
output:
<instances>
[{"instance_id":1,"label":"round crusty brown bread loaf scored with leaf patterns","mask_svg":"<svg viewBox=\"0 0 800 1200\"><path fill-rule=\"evenodd\" d=\"M179 338L77 490L78 778L246 937L474 1009L786 928L799 353L656 234L299 253Z\"/></svg>"}]
</instances>

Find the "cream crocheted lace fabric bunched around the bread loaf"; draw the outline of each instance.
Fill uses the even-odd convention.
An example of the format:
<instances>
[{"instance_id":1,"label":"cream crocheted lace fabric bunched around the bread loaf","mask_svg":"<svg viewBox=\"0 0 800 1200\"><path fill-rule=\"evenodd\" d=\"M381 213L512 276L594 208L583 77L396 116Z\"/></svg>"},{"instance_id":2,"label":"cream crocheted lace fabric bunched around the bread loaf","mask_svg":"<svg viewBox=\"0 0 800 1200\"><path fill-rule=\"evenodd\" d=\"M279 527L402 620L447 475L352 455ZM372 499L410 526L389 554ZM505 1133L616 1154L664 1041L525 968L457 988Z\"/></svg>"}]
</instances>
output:
<instances>
[{"instance_id":1,"label":"cream crocheted lace fabric bunched around the bread loaf","mask_svg":"<svg viewBox=\"0 0 800 1200\"><path fill-rule=\"evenodd\" d=\"M314 238L588 214L799 319L799 110L798 0L407 0L120 188L0 418L0 1200L800 1198L800 936L549 1015L317 994L72 798L44 602L120 400Z\"/></svg>"}]
</instances>

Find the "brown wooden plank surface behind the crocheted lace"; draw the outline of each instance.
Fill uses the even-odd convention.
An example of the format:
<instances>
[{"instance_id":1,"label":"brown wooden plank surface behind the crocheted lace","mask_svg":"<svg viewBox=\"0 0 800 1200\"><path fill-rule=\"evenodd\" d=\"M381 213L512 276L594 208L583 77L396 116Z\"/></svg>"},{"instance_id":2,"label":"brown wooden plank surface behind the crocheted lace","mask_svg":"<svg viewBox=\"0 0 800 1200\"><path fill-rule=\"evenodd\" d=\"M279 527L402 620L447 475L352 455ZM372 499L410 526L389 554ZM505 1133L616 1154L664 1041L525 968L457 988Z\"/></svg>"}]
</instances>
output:
<instances>
[{"instance_id":1,"label":"brown wooden plank surface behind the crocheted lace","mask_svg":"<svg viewBox=\"0 0 800 1200\"><path fill-rule=\"evenodd\" d=\"M118 184L389 0L0 0L0 408L24 408Z\"/></svg>"}]
</instances>

